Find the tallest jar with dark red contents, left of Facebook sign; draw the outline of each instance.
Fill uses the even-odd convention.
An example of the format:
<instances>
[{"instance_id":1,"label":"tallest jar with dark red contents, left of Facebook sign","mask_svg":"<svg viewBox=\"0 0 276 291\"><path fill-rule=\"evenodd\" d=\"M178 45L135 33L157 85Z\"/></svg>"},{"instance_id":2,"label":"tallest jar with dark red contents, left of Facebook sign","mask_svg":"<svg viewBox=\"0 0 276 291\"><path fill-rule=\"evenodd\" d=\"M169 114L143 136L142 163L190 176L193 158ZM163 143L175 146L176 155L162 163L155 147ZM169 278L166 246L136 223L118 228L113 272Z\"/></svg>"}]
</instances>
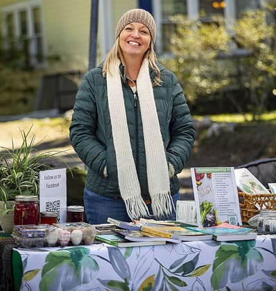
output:
<instances>
[{"instance_id":1,"label":"tallest jar with dark red contents, left of Facebook sign","mask_svg":"<svg viewBox=\"0 0 276 291\"><path fill-rule=\"evenodd\" d=\"M15 225L38 224L39 213L37 196L15 197Z\"/></svg>"}]
</instances>

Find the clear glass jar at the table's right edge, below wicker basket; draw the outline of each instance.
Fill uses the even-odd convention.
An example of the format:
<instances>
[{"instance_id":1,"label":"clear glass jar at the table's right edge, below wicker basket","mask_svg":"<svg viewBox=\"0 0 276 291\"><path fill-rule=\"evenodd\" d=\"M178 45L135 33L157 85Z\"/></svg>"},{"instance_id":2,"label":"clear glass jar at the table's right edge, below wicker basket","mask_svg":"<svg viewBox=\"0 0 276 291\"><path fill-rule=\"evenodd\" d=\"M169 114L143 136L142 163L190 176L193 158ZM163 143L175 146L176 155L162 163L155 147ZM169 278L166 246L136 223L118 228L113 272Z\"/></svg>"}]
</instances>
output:
<instances>
[{"instance_id":1,"label":"clear glass jar at the table's right edge, below wicker basket","mask_svg":"<svg viewBox=\"0 0 276 291\"><path fill-rule=\"evenodd\" d=\"M276 210L261 210L257 219L259 234L276 233Z\"/></svg>"}]
</instances>

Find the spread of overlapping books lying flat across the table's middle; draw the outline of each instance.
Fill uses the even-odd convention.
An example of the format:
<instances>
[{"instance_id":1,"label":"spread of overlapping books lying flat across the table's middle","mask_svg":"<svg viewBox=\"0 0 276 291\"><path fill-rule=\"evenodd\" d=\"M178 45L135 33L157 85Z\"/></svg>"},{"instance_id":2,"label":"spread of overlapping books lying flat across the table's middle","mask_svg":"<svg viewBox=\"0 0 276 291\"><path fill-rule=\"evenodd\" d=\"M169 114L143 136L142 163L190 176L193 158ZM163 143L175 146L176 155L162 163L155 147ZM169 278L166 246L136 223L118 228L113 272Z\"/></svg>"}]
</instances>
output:
<instances>
[{"instance_id":1,"label":"spread of overlapping books lying flat across the table's middle","mask_svg":"<svg viewBox=\"0 0 276 291\"><path fill-rule=\"evenodd\" d=\"M109 217L107 222L110 222L110 233L98 233L96 234L96 240L117 247L202 240L216 240L219 242L255 240L257 237L257 233L252 232L252 228L235 226L227 222L214 227L198 227L179 222L162 222L143 218L135 222L122 222Z\"/></svg>"}]
</instances>

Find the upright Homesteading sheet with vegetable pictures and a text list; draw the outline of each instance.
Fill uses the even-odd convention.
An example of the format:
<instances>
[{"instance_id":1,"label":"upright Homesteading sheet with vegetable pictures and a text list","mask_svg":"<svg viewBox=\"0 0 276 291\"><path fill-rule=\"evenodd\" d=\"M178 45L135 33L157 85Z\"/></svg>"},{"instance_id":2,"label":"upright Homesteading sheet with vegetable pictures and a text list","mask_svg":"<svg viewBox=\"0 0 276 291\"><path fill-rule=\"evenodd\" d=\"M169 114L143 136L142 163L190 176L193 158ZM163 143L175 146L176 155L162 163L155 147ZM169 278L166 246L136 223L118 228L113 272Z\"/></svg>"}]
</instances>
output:
<instances>
[{"instance_id":1,"label":"upright Homesteading sheet with vegetable pictures and a text list","mask_svg":"<svg viewBox=\"0 0 276 291\"><path fill-rule=\"evenodd\" d=\"M241 225L234 167L191 167L197 225Z\"/></svg>"}]
</instances>

